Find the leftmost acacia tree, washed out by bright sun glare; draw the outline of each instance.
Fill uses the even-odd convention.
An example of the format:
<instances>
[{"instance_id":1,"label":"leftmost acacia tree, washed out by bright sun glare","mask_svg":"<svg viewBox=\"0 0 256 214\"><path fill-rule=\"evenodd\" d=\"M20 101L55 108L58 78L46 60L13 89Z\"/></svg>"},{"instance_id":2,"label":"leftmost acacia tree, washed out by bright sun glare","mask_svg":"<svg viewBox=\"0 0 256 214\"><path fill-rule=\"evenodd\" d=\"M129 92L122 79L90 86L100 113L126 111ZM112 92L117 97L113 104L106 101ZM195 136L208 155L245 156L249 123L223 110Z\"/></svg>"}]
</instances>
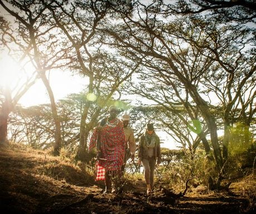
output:
<instances>
[{"instance_id":1,"label":"leftmost acacia tree, washed out by bright sun glare","mask_svg":"<svg viewBox=\"0 0 256 214\"><path fill-rule=\"evenodd\" d=\"M9 58L15 58L12 62L8 61L8 58L2 58L2 61L4 62L1 65L0 144L6 144L8 143L7 130L9 114L15 110L19 99L21 99L21 97L35 83L37 76L35 71L27 71L26 51L28 47L24 46L19 39L14 37L14 34L16 34L16 29L13 29L11 23L9 23L3 17L0 17L0 24L0 45L3 47L3 49L9 50L8 53L5 53L6 56ZM15 46L15 50L13 46ZM18 56L18 51L23 51L25 53L23 56ZM16 62L17 66L13 66L13 63L16 64ZM15 71L13 71L13 69Z\"/></svg>"}]
</instances>

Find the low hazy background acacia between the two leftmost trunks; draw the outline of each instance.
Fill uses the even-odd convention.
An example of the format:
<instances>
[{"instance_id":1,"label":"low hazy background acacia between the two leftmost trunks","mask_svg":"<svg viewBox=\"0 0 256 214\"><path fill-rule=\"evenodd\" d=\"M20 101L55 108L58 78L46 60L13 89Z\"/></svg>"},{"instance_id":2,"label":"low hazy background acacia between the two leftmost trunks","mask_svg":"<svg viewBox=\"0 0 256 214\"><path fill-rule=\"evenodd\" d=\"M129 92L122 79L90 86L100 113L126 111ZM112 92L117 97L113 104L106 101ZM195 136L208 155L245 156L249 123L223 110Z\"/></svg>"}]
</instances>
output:
<instances>
[{"instance_id":1,"label":"low hazy background acacia between the two leftmost trunks","mask_svg":"<svg viewBox=\"0 0 256 214\"><path fill-rule=\"evenodd\" d=\"M22 142L37 149L47 149L55 142L55 124L51 116L50 104L19 107L9 117L14 142Z\"/></svg>"}]
</instances>

